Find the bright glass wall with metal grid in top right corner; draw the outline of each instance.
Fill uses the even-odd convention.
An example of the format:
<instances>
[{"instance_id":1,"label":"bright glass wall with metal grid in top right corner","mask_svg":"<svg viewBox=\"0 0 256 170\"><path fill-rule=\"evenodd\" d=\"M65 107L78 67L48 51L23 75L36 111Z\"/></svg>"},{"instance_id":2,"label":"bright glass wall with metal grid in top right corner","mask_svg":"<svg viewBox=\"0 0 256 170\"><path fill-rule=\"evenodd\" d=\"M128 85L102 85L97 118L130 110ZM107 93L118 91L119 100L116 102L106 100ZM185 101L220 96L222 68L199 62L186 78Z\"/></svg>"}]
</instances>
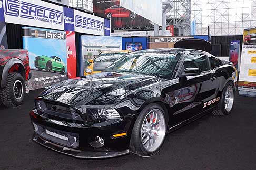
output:
<instances>
[{"instance_id":1,"label":"bright glass wall with metal grid in top right corner","mask_svg":"<svg viewBox=\"0 0 256 170\"><path fill-rule=\"evenodd\" d=\"M256 0L191 0L191 19L196 35L242 35L256 27Z\"/></svg>"}]
</instances>

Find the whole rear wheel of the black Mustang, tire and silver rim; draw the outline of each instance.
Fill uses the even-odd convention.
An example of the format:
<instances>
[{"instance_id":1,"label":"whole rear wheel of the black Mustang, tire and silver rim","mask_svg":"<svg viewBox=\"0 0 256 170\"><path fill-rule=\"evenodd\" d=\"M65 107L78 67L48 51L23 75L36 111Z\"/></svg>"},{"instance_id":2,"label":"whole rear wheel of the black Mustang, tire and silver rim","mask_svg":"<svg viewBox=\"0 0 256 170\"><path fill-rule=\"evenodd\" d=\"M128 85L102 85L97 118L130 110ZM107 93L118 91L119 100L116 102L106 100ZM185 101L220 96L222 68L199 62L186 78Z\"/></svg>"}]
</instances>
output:
<instances>
[{"instance_id":1,"label":"whole rear wheel of the black Mustang, tire and silver rim","mask_svg":"<svg viewBox=\"0 0 256 170\"><path fill-rule=\"evenodd\" d=\"M228 82L222 92L220 102L212 113L220 116L230 114L234 106L234 98L234 85L232 82Z\"/></svg>"}]
</instances>

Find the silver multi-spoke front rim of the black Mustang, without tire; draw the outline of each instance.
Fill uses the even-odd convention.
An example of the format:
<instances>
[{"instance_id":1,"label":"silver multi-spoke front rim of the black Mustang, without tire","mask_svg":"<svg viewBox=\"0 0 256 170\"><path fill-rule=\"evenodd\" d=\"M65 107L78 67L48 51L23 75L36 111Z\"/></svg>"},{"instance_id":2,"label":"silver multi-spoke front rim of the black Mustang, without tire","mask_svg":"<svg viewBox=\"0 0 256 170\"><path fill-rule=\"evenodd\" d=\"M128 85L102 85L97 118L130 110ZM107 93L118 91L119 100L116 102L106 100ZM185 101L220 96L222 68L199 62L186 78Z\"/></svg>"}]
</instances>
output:
<instances>
[{"instance_id":1,"label":"silver multi-spoke front rim of the black Mustang, without tire","mask_svg":"<svg viewBox=\"0 0 256 170\"><path fill-rule=\"evenodd\" d=\"M164 113L153 109L147 113L141 127L141 142L148 152L154 152L161 146L166 134Z\"/></svg>"}]
</instances>

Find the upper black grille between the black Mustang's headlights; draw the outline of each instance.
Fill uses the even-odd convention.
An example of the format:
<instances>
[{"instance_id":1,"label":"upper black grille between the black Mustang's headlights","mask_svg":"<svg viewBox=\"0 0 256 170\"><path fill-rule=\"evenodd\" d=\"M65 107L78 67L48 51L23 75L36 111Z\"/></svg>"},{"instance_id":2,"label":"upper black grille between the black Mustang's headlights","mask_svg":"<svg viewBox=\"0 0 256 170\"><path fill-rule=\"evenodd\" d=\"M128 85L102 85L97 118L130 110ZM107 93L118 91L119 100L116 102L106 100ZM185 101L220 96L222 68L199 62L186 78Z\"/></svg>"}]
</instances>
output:
<instances>
[{"instance_id":1,"label":"upper black grille between the black Mustang's headlights","mask_svg":"<svg viewBox=\"0 0 256 170\"><path fill-rule=\"evenodd\" d=\"M71 123L84 123L84 119L73 108L65 104L50 103L47 101L36 100L37 112L46 118L71 122Z\"/></svg>"}]
</instances>

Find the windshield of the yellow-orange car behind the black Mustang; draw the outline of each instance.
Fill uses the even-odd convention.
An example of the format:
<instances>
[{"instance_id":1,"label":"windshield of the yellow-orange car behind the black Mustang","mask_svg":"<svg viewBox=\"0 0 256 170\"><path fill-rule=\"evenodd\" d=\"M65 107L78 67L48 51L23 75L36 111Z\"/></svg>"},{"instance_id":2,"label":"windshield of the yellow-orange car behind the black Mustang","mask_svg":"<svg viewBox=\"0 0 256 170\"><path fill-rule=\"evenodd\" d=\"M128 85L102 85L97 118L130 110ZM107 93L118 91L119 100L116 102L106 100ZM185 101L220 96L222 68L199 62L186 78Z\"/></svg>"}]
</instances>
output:
<instances>
[{"instance_id":1,"label":"windshield of the yellow-orange car behind the black Mustang","mask_svg":"<svg viewBox=\"0 0 256 170\"><path fill-rule=\"evenodd\" d=\"M97 56L93 62L115 62L117 59L125 55L124 52L110 52L110 53L102 53Z\"/></svg>"}]
</instances>

